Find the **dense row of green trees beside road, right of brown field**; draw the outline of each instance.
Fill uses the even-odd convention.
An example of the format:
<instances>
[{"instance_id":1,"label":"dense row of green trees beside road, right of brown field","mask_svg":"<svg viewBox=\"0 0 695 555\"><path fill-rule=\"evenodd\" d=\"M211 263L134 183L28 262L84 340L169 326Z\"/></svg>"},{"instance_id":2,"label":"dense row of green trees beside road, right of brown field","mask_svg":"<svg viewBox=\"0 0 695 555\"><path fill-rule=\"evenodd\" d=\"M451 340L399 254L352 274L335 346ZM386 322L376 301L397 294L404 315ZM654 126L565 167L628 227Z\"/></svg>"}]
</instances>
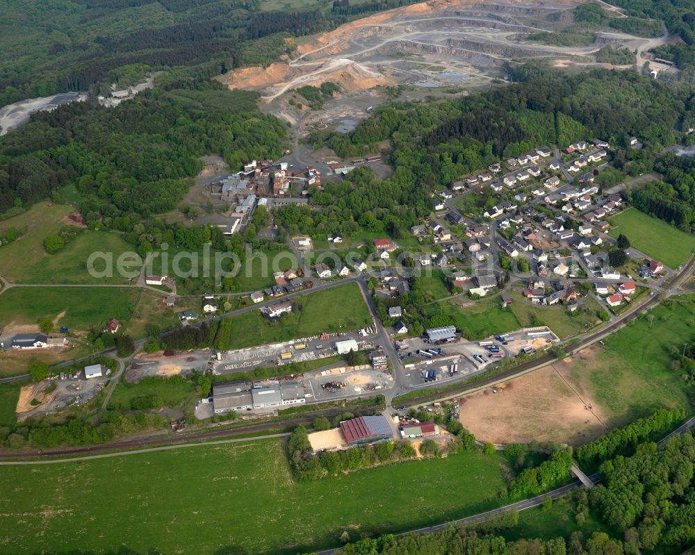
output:
<instances>
[{"instance_id":1,"label":"dense row of green trees beside road, right of brown field","mask_svg":"<svg viewBox=\"0 0 695 555\"><path fill-rule=\"evenodd\" d=\"M577 460L584 470L595 470L600 463L616 455L629 455L640 442L651 441L664 436L685 420L685 410L663 408L654 411L646 418L616 428L600 438L577 449Z\"/></svg>"}]
</instances>

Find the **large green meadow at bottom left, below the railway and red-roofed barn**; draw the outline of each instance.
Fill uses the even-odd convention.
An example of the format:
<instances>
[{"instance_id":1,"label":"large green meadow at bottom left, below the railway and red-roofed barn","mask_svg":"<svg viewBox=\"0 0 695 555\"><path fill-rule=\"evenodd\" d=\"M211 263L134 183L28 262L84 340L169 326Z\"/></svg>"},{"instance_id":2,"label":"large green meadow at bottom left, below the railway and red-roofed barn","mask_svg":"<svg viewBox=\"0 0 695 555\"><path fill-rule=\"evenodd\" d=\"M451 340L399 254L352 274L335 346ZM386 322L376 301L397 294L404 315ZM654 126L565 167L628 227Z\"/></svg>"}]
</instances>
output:
<instances>
[{"instance_id":1,"label":"large green meadow at bottom left, below the railway and red-roofed barn","mask_svg":"<svg viewBox=\"0 0 695 555\"><path fill-rule=\"evenodd\" d=\"M498 455L461 453L295 483L283 442L260 440L6 467L0 554L122 545L140 553L311 552L338 545L343 530L357 539L496 506L504 465Z\"/></svg>"}]
</instances>

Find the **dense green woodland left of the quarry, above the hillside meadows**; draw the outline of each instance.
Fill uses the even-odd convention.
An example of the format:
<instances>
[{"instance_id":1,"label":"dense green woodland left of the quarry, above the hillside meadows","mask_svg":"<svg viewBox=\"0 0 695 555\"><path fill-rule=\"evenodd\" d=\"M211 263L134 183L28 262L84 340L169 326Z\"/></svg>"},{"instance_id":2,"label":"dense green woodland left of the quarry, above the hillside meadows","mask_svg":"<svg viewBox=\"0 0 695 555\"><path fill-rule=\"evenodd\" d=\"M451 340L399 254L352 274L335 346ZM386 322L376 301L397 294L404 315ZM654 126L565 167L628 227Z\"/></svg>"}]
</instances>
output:
<instances>
[{"instance_id":1,"label":"dense green woodland left of the quarry, above the hillside meadows","mask_svg":"<svg viewBox=\"0 0 695 555\"><path fill-rule=\"evenodd\" d=\"M238 167L281 154L286 127L255 101L254 93L188 80L116 108L86 101L35 113L0 140L0 211L51 197L66 183L87 199L85 215L172 210L202 169L200 156L219 154Z\"/></svg>"}]
</instances>

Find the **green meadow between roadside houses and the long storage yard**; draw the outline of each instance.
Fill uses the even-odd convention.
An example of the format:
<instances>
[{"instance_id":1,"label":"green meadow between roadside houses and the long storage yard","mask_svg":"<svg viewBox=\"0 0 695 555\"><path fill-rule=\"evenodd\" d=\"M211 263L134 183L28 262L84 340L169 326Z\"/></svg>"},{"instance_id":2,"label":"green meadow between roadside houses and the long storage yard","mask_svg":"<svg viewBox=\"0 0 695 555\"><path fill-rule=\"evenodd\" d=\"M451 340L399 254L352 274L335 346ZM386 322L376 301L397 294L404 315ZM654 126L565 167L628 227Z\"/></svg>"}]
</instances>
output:
<instances>
[{"instance_id":1,"label":"green meadow between roadside houses and the long storage yard","mask_svg":"<svg viewBox=\"0 0 695 555\"><path fill-rule=\"evenodd\" d=\"M302 304L302 310L283 316L280 322L269 323L259 310L232 318L227 348L242 349L316 336L323 331L348 331L371 323L357 283L345 283L304 297L295 297L293 301Z\"/></svg>"}]
</instances>

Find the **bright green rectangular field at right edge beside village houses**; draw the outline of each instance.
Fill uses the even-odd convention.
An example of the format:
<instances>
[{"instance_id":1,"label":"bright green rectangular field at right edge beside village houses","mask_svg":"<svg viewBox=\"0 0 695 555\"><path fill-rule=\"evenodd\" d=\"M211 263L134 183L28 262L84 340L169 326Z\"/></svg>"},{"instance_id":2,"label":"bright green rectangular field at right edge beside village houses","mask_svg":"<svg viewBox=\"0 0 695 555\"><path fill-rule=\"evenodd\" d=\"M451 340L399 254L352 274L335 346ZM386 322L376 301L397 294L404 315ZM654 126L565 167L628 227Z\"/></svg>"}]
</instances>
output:
<instances>
[{"instance_id":1,"label":"bright green rectangular field at right edge beside village houses","mask_svg":"<svg viewBox=\"0 0 695 555\"><path fill-rule=\"evenodd\" d=\"M632 247L669 268L680 266L695 249L695 235L683 233L636 208L629 208L608 221L614 226L608 233L611 237L623 233Z\"/></svg>"}]
</instances>

